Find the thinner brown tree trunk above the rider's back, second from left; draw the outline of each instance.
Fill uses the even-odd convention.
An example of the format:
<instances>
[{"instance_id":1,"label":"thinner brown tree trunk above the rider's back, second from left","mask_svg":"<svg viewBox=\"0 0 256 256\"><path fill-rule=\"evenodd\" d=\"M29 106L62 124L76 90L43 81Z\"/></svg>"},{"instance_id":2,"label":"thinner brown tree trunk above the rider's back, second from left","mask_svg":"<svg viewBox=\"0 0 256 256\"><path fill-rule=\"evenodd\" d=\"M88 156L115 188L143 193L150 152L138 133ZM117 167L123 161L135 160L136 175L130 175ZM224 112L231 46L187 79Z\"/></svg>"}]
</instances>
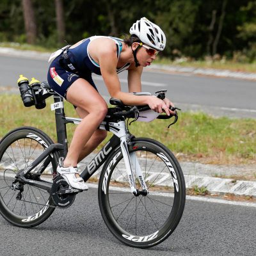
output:
<instances>
[{"instance_id":1,"label":"thinner brown tree trunk above the rider's back, second from left","mask_svg":"<svg viewBox=\"0 0 256 256\"><path fill-rule=\"evenodd\" d=\"M65 38L65 19L63 10L63 1L55 0L55 10L56 10L56 24L58 31L58 42L63 44Z\"/></svg>"}]
</instances>

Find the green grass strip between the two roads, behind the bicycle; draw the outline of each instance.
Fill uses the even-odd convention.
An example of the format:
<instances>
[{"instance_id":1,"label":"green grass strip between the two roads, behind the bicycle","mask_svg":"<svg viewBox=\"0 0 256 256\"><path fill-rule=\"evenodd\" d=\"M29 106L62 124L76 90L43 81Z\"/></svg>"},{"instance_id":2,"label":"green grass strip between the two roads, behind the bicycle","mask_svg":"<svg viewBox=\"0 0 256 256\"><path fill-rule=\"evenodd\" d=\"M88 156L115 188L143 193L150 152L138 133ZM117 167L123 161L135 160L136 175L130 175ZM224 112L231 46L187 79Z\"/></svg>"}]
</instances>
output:
<instances>
[{"instance_id":1,"label":"green grass strip between the two roads, behind the bicycle","mask_svg":"<svg viewBox=\"0 0 256 256\"><path fill-rule=\"evenodd\" d=\"M50 110L52 99L44 109L25 108L19 95L0 95L0 138L11 129L28 125L42 129L56 141L54 112ZM66 116L76 116L71 104L65 102ZM168 120L134 122L129 129L137 137L149 137L161 141L182 159L199 160L202 163L255 163L256 120L214 118L205 113L179 113L179 121L167 128ZM67 125L68 141L76 125ZM111 134L109 133L108 138Z\"/></svg>"}]
</instances>

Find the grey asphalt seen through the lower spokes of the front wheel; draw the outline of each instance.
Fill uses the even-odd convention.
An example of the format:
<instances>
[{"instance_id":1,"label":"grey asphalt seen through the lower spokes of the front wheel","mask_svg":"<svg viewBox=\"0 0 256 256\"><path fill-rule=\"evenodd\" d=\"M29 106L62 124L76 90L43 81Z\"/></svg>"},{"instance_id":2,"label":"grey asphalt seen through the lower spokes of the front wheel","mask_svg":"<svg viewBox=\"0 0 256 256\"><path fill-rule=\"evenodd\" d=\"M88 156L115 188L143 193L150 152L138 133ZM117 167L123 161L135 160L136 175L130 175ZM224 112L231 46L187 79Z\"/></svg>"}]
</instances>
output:
<instances>
[{"instance_id":1,"label":"grey asphalt seen through the lower spokes of the front wheel","mask_svg":"<svg viewBox=\"0 0 256 256\"><path fill-rule=\"evenodd\" d=\"M109 204L115 220L127 232L145 236L159 230L172 211L173 198L166 196L133 196L111 194ZM116 192L116 191L115 191Z\"/></svg>"}]
</instances>

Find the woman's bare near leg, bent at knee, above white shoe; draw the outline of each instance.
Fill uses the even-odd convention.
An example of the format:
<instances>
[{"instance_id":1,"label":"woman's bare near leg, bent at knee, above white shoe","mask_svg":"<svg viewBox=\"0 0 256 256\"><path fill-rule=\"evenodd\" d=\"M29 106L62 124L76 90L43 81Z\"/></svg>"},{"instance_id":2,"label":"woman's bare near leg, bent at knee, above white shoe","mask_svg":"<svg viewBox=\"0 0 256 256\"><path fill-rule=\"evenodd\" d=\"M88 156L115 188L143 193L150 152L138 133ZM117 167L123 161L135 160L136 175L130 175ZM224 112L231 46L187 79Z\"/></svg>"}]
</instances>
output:
<instances>
[{"instance_id":1,"label":"woman's bare near leg, bent at knee, above white shoe","mask_svg":"<svg viewBox=\"0 0 256 256\"><path fill-rule=\"evenodd\" d=\"M77 166L84 145L90 140L93 132L99 127L108 111L105 100L88 81L82 78L77 79L70 88L68 88L67 100L77 106L77 108L86 111L88 115L77 125L63 164L65 167ZM92 142L90 142L87 148L87 152L85 152L86 154L92 149L93 143L91 143Z\"/></svg>"}]
</instances>

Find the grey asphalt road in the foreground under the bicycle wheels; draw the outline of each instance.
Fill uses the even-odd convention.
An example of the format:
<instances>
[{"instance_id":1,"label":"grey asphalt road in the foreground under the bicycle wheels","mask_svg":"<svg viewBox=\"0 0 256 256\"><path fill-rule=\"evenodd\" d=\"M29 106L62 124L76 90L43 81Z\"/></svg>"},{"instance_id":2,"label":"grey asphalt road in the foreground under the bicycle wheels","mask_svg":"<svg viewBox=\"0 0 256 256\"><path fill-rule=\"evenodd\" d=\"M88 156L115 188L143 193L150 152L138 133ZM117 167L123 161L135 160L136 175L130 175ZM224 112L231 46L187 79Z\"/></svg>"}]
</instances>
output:
<instances>
[{"instance_id":1,"label":"grey asphalt road in the foreground under the bicycle wheels","mask_svg":"<svg viewBox=\"0 0 256 256\"><path fill-rule=\"evenodd\" d=\"M0 216L0 254L8 255L255 255L253 207L187 200L177 229L149 249L120 243L104 224L97 189L77 195L68 209L56 209L40 226L13 227Z\"/></svg>"}]
</instances>

